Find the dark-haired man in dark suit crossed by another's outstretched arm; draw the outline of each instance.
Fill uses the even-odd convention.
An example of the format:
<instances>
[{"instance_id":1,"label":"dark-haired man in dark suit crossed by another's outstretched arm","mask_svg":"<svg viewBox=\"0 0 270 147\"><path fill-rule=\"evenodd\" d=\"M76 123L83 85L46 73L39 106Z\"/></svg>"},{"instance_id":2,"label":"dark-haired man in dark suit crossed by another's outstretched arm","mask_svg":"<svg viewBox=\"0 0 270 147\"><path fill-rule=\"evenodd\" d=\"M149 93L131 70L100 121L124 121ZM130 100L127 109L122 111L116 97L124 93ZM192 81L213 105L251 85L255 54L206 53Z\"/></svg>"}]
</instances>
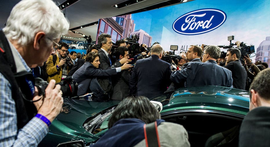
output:
<instances>
[{"instance_id":1,"label":"dark-haired man in dark suit crossed by another's outstretched arm","mask_svg":"<svg viewBox=\"0 0 270 147\"><path fill-rule=\"evenodd\" d=\"M125 46L119 46L117 49L115 49L114 53L116 57L116 62L119 62L122 58L129 58L128 55L128 48ZM130 74L128 70L122 70L120 73L117 73L116 75L112 76L113 79L113 100L122 100L123 98L126 98L129 96L129 88L128 88L128 82L129 82Z\"/></svg>"}]
</instances>

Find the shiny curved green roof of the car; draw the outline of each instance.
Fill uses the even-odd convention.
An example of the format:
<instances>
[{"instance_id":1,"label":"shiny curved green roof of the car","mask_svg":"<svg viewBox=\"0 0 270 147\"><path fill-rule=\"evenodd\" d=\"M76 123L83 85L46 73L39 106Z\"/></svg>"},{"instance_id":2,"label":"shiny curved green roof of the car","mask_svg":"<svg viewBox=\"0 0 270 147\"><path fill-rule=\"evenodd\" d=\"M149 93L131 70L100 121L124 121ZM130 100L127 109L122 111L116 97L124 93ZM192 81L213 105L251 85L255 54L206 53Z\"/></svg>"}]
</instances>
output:
<instances>
[{"instance_id":1,"label":"shiny curved green roof of the car","mask_svg":"<svg viewBox=\"0 0 270 147\"><path fill-rule=\"evenodd\" d=\"M182 109L221 110L246 115L249 111L249 92L220 86L183 87L155 98L163 112Z\"/></svg>"}]
</instances>

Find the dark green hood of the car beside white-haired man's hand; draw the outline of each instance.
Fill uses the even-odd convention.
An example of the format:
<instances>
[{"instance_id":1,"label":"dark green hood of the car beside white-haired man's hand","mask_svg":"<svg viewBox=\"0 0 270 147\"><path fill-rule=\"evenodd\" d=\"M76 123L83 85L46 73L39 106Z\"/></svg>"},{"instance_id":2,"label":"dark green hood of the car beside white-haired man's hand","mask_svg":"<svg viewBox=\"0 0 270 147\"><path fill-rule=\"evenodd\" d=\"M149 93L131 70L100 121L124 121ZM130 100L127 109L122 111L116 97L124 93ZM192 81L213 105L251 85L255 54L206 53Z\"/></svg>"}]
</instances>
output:
<instances>
[{"instance_id":1,"label":"dark green hood of the car beside white-haired man's hand","mask_svg":"<svg viewBox=\"0 0 270 147\"><path fill-rule=\"evenodd\" d=\"M117 105L120 101L95 102L88 100L65 99L64 112L61 112L49 127L49 132L68 137L88 136L94 137L87 132L83 123L91 116ZM95 137L94 137L95 138ZM95 139L94 139L95 140Z\"/></svg>"}]
</instances>

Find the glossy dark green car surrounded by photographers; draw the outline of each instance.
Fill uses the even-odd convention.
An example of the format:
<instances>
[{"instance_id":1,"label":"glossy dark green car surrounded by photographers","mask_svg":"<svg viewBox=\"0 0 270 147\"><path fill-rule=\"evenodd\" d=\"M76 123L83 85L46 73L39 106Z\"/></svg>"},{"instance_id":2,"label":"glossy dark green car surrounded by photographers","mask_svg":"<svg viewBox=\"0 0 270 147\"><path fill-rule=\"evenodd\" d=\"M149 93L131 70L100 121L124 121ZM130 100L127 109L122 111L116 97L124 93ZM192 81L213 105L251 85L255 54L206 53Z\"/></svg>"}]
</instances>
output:
<instances>
[{"instance_id":1,"label":"glossy dark green car surrounded by photographers","mask_svg":"<svg viewBox=\"0 0 270 147\"><path fill-rule=\"evenodd\" d=\"M162 119L186 128L191 146L238 146L239 128L249 111L249 93L228 87L184 87L149 99L162 103ZM65 112L52 122L39 146L97 141L108 129L108 119L118 103L64 100Z\"/></svg>"}]
</instances>

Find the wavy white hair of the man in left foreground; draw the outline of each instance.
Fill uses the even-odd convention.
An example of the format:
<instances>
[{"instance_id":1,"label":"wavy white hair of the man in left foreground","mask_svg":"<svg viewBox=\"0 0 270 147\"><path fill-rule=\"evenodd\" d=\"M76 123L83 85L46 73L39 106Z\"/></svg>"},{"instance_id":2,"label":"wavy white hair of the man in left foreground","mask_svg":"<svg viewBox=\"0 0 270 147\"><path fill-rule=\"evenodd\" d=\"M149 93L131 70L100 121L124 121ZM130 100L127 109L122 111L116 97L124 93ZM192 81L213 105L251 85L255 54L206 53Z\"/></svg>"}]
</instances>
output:
<instances>
[{"instance_id":1,"label":"wavy white hair of the man in left foreground","mask_svg":"<svg viewBox=\"0 0 270 147\"><path fill-rule=\"evenodd\" d=\"M22 0L12 8L3 32L8 39L26 46L38 32L55 40L68 29L69 21L52 0Z\"/></svg>"}]
</instances>

